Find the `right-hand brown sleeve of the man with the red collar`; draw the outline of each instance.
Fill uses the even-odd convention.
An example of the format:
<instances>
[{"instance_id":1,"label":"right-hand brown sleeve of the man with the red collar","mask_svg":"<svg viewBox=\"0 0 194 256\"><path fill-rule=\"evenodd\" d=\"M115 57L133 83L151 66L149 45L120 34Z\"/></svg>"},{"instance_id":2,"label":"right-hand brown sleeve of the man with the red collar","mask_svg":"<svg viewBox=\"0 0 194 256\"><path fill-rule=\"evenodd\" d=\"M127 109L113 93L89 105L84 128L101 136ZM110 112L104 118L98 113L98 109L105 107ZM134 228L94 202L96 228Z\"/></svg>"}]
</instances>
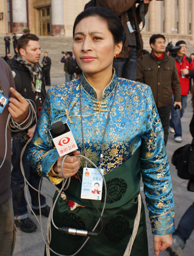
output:
<instances>
[{"instance_id":1,"label":"right-hand brown sleeve of the man with the red collar","mask_svg":"<svg viewBox=\"0 0 194 256\"><path fill-rule=\"evenodd\" d=\"M175 59L173 59L173 61L174 61L174 69L173 69L173 73L172 73L171 86L173 89L175 101L181 102L181 84L180 84L179 75L177 72L176 61L175 61Z\"/></svg>"}]
</instances>

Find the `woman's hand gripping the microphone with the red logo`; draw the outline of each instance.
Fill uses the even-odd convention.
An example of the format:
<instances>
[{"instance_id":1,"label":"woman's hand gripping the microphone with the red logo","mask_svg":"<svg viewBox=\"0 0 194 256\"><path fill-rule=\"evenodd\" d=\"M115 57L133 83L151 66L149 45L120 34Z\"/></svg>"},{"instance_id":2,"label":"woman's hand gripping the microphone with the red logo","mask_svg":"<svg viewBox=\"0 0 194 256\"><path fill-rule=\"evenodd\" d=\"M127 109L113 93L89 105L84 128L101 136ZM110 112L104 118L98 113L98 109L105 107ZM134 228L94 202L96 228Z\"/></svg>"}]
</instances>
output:
<instances>
[{"instance_id":1,"label":"woman's hand gripping the microphone with the red logo","mask_svg":"<svg viewBox=\"0 0 194 256\"><path fill-rule=\"evenodd\" d=\"M74 156L76 155L80 155L79 151L74 151L73 152ZM65 177L71 177L74 176L79 168L80 168L80 158L79 157L66 157L65 161L63 163L63 174ZM63 177L62 172L61 172L61 164L62 164L62 160L64 157L58 157L57 162L54 164L53 169L56 173L58 173L59 177Z\"/></svg>"}]
</instances>

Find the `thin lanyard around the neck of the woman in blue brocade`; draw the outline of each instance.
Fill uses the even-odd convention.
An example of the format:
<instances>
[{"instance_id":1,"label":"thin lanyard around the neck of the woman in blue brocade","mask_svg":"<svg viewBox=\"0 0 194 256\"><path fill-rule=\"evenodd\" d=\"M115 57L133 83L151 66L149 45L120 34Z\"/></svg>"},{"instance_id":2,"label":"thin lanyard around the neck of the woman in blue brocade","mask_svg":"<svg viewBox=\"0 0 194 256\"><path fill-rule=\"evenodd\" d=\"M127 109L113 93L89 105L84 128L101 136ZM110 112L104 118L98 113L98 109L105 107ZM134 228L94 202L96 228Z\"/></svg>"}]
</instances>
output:
<instances>
[{"instance_id":1,"label":"thin lanyard around the neck of the woman in blue brocade","mask_svg":"<svg viewBox=\"0 0 194 256\"><path fill-rule=\"evenodd\" d=\"M113 106L113 104L114 104L114 100L115 100L115 96L116 96L117 84L118 84L118 79L117 79L117 81L116 81L116 87L115 87L115 92L114 92L114 98L113 98L112 104L111 104L111 106L110 106L110 110L109 110L109 112L108 112L108 116L107 116L107 120L106 120L106 124L105 124L105 130L104 130L104 133L103 133L103 142L102 142L102 150L101 150L100 169L101 169L102 164L103 164L103 150L104 150L105 133L106 133L108 121L109 121L109 118L110 118L110 112L111 112L111 110L112 110L112 106ZM84 143L84 131L83 131L82 102L81 102L81 82L80 82L80 84L79 84L79 94L80 94L80 119L81 119L81 129L82 129L82 143L83 143L84 156L86 157L85 143ZM87 163L86 163L86 168L87 168Z\"/></svg>"}]
</instances>

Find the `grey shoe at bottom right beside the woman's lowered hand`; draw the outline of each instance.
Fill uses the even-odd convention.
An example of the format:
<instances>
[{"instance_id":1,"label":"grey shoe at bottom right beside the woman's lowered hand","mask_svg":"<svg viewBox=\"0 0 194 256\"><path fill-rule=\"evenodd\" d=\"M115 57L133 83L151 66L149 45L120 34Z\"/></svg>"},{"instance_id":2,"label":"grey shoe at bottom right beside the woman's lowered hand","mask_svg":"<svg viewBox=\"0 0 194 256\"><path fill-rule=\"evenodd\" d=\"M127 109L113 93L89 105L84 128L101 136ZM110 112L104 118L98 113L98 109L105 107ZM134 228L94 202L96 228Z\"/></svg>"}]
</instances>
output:
<instances>
[{"instance_id":1,"label":"grey shoe at bottom right beside the woman's lowered hand","mask_svg":"<svg viewBox=\"0 0 194 256\"><path fill-rule=\"evenodd\" d=\"M173 244L166 250L169 252L169 255L171 256L184 256L184 246L185 243L180 237L173 236Z\"/></svg>"}]
</instances>

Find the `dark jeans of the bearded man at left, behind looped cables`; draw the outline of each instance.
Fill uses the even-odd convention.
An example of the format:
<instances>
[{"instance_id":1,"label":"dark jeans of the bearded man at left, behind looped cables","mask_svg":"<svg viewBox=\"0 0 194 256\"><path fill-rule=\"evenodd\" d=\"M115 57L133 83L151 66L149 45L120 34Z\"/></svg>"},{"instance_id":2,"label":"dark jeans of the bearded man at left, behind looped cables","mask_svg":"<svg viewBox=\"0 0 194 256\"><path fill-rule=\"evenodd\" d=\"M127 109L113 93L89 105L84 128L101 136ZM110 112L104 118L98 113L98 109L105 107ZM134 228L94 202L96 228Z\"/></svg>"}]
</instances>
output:
<instances>
[{"instance_id":1,"label":"dark jeans of the bearded man at left, behind looped cables","mask_svg":"<svg viewBox=\"0 0 194 256\"><path fill-rule=\"evenodd\" d=\"M13 197L13 211L14 217L17 219L25 219L28 217L27 202L24 193L24 180L20 169L20 155L23 146L26 144L27 140L23 138L23 133L13 137L12 143L12 157L11 162L13 169L11 172L11 189ZM29 146L27 146L25 153L23 154L22 163L25 170L25 176L29 183L38 189L38 185L41 177L38 175L36 170L34 170L28 160ZM29 186L29 191L31 195L32 207L34 209L39 209L38 206L38 193ZM42 207L46 206L45 197L40 195L40 204Z\"/></svg>"}]
</instances>

